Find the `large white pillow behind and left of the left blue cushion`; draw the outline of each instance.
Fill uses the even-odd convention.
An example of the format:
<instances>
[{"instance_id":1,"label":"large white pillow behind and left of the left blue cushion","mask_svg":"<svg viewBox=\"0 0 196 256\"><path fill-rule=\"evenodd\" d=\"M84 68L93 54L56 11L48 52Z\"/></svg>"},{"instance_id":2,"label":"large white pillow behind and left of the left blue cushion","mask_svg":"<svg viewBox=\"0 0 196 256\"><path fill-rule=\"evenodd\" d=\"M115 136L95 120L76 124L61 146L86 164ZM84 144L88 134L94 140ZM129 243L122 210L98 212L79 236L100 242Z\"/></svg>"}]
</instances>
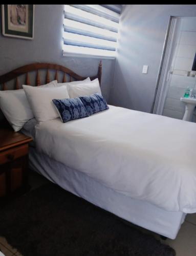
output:
<instances>
[{"instance_id":1,"label":"large white pillow behind and left of the left blue cushion","mask_svg":"<svg viewBox=\"0 0 196 256\"><path fill-rule=\"evenodd\" d=\"M55 119L58 113L52 99L69 98L66 86L55 88L39 88L23 86L33 114L38 122Z\"/></svg>"}]
</instances>

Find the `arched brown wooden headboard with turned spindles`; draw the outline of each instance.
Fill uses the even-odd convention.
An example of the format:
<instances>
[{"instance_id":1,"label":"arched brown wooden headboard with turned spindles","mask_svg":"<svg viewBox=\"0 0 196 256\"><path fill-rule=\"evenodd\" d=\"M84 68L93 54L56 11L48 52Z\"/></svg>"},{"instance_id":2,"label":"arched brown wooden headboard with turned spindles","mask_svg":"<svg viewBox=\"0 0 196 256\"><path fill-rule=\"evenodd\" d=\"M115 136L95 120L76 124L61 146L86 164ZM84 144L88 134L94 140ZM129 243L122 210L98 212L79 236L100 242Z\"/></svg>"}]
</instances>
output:
<instances>
[{"instance_id":1,"label":"arched brown wooden headboard with turned spindles","mask_svg":"<svg viewBox=\"0 0 196 256\"><path fill-rule=\"evenodd\" d=\"M29 65L25 65L23 67L20 67L18 69L15 69L13 71L10 71L9 73L6 73L4 75L0 76L0 84L3 85L2 90L8 90L8 88L6 87L6 82L15 79L15 88L14 89L19 89L20 88L20 84L18 82L18 76L26 74L26 82L25 84L27 85L31 85L33 86L33 84L30 81L29 78L29 72L31 71L36 71L36 84L34 84L34 86L40 86L41 82L40 82L40 76L39 76L39 70L41 69L45 69L47 70L47 74L46 74L46 82L45 83L49 83L50 82L50 71L49 70L55 70L55 80L57 80L58 82L69 82L69 81L74 81L74 80L83 80L86 77L82 77L77 75L76 73L74 73L72 70L57 65L57 64L51 64L51 63L32 63ZM63 79L62 81L59 81L58 79L58 73L59 72L63 72ZM102 74L102 63L100 61L99 63L99 67L98 67L98 72L97 75L90 77L91 80L98 78L99 79L99 84L101 84L101 74ZM69 81L67 81L66 79L66 75L70 76ZM23 83L24 84L24 83Z\"/></svg>"}]
</instances>

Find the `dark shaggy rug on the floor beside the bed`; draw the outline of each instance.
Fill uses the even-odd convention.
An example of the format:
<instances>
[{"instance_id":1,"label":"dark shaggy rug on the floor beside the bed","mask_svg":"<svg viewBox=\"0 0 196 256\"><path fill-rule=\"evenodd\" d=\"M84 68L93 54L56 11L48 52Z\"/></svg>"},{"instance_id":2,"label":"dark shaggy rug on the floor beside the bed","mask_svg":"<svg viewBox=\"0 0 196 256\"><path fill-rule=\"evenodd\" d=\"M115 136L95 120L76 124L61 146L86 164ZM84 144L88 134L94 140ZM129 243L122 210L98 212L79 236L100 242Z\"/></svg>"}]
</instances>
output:
<instances>
[{"instance_id":1,"label":"dark shaggy rug on the floor beside the bed","mask_svg":"<svg viewBox=\"0 0 196 256\"><path fill-rule=\"evenodd\" d=\"M4 206L0 236L24 256L176 255L153 236L54 184Z\"/></svg>"}]
</instances>

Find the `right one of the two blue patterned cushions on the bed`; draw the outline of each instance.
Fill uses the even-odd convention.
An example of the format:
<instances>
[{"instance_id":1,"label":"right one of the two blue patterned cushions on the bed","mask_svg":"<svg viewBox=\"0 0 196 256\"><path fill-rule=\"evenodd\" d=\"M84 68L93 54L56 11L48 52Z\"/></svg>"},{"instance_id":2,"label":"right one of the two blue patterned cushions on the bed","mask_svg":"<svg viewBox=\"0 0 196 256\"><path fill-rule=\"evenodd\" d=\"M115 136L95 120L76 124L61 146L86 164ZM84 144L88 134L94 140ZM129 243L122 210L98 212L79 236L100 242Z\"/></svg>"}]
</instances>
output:
<instances>
[{"instance_id":1,"label":"right one of the two blue patterned cushions on the bed","mask_svg":"<svg viewBox=\"0 0 196 256\"><path fill-rule=\"evenodd\" d=\"M86 111L88 112L89 116L93 115L97 112L108 110L109 107L107 102L104 100L101 94L95 93L88 96L81 96L79 97L84 104Z\"/></svg>"}]
</instances>

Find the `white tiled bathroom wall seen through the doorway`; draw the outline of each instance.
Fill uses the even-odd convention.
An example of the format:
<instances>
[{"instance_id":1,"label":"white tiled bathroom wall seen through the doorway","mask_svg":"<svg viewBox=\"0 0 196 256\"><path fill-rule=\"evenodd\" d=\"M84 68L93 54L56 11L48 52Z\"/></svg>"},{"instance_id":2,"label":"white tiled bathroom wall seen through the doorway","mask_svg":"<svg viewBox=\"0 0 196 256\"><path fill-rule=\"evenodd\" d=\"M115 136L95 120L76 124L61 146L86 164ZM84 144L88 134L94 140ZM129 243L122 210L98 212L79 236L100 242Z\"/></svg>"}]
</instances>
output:
<instances>
[{"instance_id":1,"label":"white tiled bathroom wall seen through the doorway","mask_svg":"<svg viewBox=\"0 0 196 256\"><path fill-rule=\"evenodd\" d=\"M190 87L196 92L196 72L191 71L196 52L196 17L182 18L173 68L168 83L167 97L163 110L164 116L182 119L185 103L180 101L185 89ZM196 111L192 121L196 122Z\"/></svg>"}]
</instances>

